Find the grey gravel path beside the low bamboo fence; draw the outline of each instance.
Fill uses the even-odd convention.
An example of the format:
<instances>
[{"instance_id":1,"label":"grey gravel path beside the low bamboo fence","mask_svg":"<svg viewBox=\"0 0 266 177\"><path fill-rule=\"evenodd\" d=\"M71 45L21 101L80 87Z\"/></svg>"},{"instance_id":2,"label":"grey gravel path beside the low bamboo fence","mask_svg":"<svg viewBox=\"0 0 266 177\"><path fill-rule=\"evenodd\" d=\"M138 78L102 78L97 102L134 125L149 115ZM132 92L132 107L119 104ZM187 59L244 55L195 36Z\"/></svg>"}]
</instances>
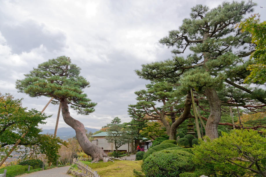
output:
<instances>
[{"instance_id":1,"label":"grey gravel path beside the low bamboo fence","mask_svg":"<svg viewBox=\"0 0 266 177\"><path fill-rule=\"evenodd\" d=\"M66 171L70 166L52 168L49 170L43 170L38 172L33 172L30 174L21 175L19 177L70 177L70 175L66 174Z\"/></svg>"}]
</instances>

